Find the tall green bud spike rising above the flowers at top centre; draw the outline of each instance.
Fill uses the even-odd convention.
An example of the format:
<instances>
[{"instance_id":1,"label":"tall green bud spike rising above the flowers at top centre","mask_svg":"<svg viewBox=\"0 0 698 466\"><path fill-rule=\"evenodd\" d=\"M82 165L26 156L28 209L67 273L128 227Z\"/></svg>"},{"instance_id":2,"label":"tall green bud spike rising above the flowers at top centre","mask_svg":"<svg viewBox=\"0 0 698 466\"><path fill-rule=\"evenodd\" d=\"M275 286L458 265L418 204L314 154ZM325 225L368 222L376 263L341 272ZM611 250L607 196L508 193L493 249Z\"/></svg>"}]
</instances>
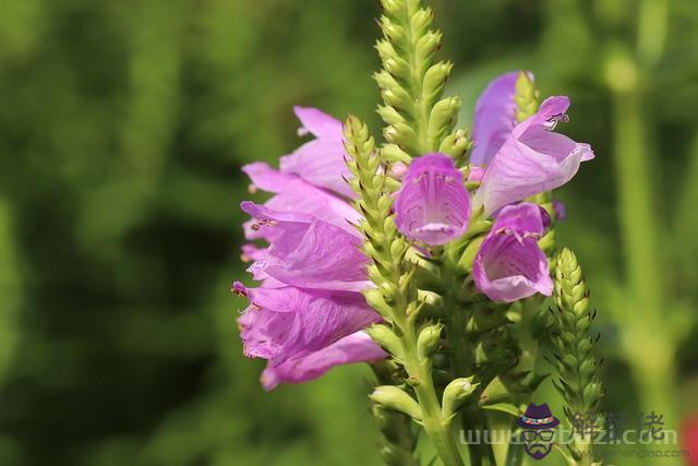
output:
<instances>
[{"instance_id":1,"label":"tall green bud spike rising above the flowers at top centre","mask_svg":"<svg viewBox=\"0 0 698 466\"><path fill-rule=\"evenodd\" d=\"M453 63L436 61L442 34L431 29L433 11L418 0L383 0L383 38L376 49L383 70L374 77L384 105L387 162L409 162L430 152L460 160L470 148L462 130L454 131L459 97L442 98Z\"/></svg>"}]
</instances>

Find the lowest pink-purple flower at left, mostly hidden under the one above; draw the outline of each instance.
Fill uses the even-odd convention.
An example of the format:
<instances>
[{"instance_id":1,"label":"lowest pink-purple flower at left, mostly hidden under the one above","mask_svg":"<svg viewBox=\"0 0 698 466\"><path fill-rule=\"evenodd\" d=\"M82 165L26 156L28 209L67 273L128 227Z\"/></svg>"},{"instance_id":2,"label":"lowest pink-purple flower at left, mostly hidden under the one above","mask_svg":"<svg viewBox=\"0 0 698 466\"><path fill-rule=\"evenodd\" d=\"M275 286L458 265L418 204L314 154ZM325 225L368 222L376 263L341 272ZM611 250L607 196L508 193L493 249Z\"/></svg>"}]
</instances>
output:
<instances>
[{"instance_id":1,"label":"lowest pink-purple flower at left, mostly hidden under the one above","mask_svg":"<svg viewBox=\"0 0 698 466\"><path fill-rule=\"evenodd\" d=\"M300 383L317 379L339 365L384 359L387 354L364 332L357 332L311 353L274 367L272 363L262 373L262 385L273 390L279 383Z\"/></svg>"}]
</instances>

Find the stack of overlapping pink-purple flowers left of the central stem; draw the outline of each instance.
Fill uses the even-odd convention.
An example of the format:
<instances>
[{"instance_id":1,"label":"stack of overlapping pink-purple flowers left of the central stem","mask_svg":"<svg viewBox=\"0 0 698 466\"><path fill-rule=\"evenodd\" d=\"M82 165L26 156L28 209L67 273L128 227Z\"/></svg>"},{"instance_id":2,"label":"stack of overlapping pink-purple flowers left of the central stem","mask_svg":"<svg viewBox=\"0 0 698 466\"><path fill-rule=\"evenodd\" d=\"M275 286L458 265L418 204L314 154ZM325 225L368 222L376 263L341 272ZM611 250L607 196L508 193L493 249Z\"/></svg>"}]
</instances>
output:
<instances>
[{"instance_id":1,"label":"stack of overlapping pink-purple flowers left of the central stem","mask_svg":"<svg viewBox=\"0 0 698 466\"><path fill-rule=\"evenodd\" d=\"M244 354L268 360L262 375L267 390L386 356L361 332L381 318L361 294L370 286L368 259L352 225L362 217L341 196L348 195L341 124L318 110L296 111L303 131L317 139L284 157L280 171L263 163L243 167L253 191L274 193L264 205L241 204L252 216L245 238L268 246L242 248L261 286L233 285L249 300L238 320ZM333 157L341 164L324 165Z\"/></svg>"}]
</instances>

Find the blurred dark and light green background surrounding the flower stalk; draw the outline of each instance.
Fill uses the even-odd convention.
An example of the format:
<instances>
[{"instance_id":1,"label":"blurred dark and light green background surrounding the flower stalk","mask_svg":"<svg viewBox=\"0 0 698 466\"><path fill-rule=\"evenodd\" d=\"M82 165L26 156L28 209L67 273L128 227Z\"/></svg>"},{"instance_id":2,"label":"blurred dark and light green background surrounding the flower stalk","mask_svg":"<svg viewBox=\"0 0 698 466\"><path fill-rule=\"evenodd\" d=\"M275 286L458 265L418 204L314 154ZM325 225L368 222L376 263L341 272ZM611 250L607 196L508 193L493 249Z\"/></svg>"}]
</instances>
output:
<instances>
[{"instance_id":1,"label":"blurred dark and light green background surrounding the flower stalk","mask_svg":"<svg viewBox=\"0 0 698 466\"><path fill-rule=\"evenodd\" d=\"M678 429L698 413L698 4L430 3L464 123L504 71L571 96L562 131L598 157L557 194L558 242L601 315L604 407ZM240 167L299 145L291 106L377 132L377 15L376 0L3 0L0 465L380 464L366 368L263 393L229 292Z\"/></svg>"}]
</instances>

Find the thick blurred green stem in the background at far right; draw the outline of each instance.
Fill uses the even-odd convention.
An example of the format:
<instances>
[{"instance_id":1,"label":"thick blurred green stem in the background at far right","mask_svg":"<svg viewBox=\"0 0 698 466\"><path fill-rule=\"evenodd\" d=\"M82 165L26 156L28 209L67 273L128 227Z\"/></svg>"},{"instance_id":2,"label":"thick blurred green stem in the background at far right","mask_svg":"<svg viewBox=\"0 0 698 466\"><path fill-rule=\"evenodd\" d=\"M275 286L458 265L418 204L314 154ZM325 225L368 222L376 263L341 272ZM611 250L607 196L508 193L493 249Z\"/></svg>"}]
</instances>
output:
<instances>
[{"instance_id":1,"label":"thick blurred green stem in the background at far right","mask_svg":"<svg viewBox=\"0 0 698 466\"><path fill-rule=\"evenodd\" d=\"M642 94L637 87L615 89L615 160L618 208L625 247L627 292L631 297L634 318L624 319L624 349L641 408L664 415L667 429L676 429L676 371L673 363L675 343L664 323L661 261L652 198L651 144L645 120ZM672 462L671 464L678 464Z\"/></svg>"}]
</instances>

